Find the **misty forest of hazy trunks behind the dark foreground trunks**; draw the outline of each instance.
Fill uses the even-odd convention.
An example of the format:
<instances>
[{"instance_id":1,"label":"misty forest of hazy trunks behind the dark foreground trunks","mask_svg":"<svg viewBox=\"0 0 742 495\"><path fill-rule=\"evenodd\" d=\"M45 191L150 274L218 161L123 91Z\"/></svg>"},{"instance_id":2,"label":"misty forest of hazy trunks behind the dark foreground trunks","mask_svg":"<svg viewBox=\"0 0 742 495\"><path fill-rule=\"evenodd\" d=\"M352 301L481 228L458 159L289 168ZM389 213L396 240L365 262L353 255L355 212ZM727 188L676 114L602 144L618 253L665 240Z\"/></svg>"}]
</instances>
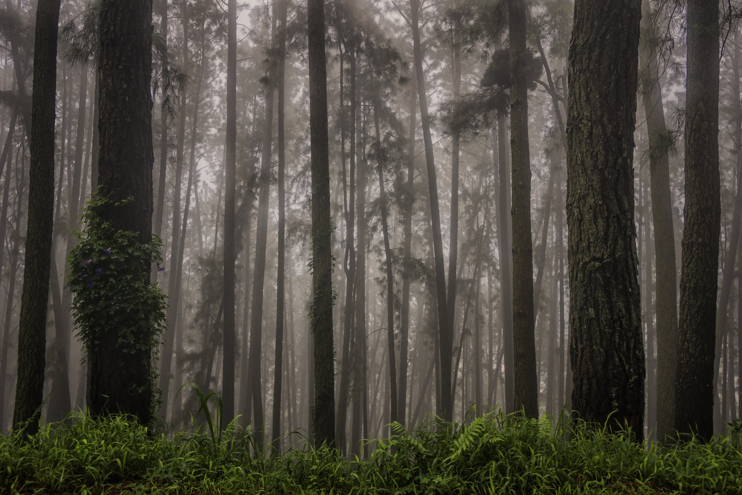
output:
<instances>
[{"instance_id":1,"label":"misty forest of hazy trunks behind the dark foreground trunks","mask_svg":"<svg viewBox=\"0 0 742 495\"><path fill-rule=\"evenodd\" d=\"M59 13L43 422L62 421L91 400L65 266L77 242L74 229L85 228L79 226L85 201L99 185L97 60L105 3L65 0ZM200 404L193 388L181 386L192 382L203 393L222 394L226 419L241 415L237 422L252 423L260 442L298 429L311 437L308 14L298 1L234 2L230 94L229 3L155 0L153 6L151 229L162 239L162 262L153 266L151 282L169 305L157 361L157 416L176 429L188 427ZM614 3L641 3L633 69L631 61L618 60L624 47L608 46L608 35L600 50L617 56L614 69L594 67L623 73L617 84L637 73L611 93L623 94L617 102L629 113L635 109L635 124L623 121L633 125L634 147L610 148L605 141L606 153L628 149L624 163L633 170L628 182L618 177L616 183L633 184L625 198L631 203L626 238L633 244L624 253L629 265L635 261L640 314L628 310L626 318L634 318L632 335L640 338L642 348L631 353L641 354L634 378L643 383L633 392L640 393L642 410L624 416L640 436L656 438L658 430L672 429L675 417L668 404L676 390L678 307L680 327L687 321L678 298L689 188L683 134L692 122L686 111L690 7L674 0ZM719 71L720 245L718 253L709 251L718 254L710 337L717 433L742 408L742 6L723 3L715 19L720 58L712 61ZM579 344L571 343L577 317L570 314L567 229L568 143L580 139L568 119L571 39L579 42L575 5L337 0L324 7L338 445L361 454L359 440L388 436L391 422L412 428L433 415L467 422L501 408L528 416L584 412L571 404L573 383L582 383L586 372L571 363L570 347ZM622 19L605 15L607 22ZM18 400L30 169L24 108L35 70L35 19L35 1L0 7L0 430L11 427ZM514 78L513 59L520 68ZM577 190L578 183L570 187ZM233 215L225 215L226 206ZM580 235L581 243L569 243L575 266L580 249L591 253L590 233ZM230 262L231 275L224 268ZM224 290L226 273L234 278L233 294ZM614 282L623 287L617 279L603 285ZM623 294L636 297L627 286ZM522 391L519 366L533 369L533 393ZM286 442L302 445L306 438Z\"/></svg>"}]
</instances>

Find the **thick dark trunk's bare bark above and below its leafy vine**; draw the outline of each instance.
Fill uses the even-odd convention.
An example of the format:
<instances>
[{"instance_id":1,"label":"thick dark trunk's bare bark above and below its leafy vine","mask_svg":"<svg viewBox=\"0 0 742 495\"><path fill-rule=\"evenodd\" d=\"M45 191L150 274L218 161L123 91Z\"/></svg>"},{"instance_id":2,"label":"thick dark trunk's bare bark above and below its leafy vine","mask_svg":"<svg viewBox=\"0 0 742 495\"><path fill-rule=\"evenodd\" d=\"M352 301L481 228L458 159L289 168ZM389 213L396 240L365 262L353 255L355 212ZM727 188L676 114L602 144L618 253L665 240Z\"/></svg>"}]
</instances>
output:
<instances>
[{"instance_id":1,"label":"thick dark trunk's bare bark above and below its leafy vine","mask_svg":"<svg viewBox=\"0 0 742 495\"><path fill-rule=\"evenodd\" d=\"M152 4L111 0L100 14L99 182L113 203L101 212L116 230L152 239ZM115 203L131 197L121 206ZM149 279L149 266L142 278ZM134 341L145 335L134 335ZM93 415L128 413L146 424L153 401L151 349L119 345L116 329L102 332L89 350L89 406Z\"/></svg>"}]
</instances>

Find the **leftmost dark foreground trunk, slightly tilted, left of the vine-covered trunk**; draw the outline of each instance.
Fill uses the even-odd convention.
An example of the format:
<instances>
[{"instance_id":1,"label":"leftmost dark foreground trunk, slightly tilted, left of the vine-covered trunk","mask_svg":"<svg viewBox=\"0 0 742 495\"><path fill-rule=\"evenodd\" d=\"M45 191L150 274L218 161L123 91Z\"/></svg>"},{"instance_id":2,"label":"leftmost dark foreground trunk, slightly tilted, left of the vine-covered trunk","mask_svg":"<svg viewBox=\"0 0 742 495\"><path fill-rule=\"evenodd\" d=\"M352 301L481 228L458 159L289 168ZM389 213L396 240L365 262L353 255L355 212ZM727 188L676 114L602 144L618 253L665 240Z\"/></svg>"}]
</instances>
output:
<instances>
[{"instance_id":1,"label":"leftmost dark foreground trunk, slightly tilted, left of the vine-covered trunk","mask_svg":"<svg viewBox=\"0 0 742 495\"><path fill-rule=\"evenodd\" d=\"M22 427L24 422L28 422L26 431L31 434L36 433L39 426L44 393L46 317L54 214L54 107L58 29L59 0L39 0L33 50L28 226L18 329L18 381L13 410L13 428Z\"/></svg>"}]
</instances>

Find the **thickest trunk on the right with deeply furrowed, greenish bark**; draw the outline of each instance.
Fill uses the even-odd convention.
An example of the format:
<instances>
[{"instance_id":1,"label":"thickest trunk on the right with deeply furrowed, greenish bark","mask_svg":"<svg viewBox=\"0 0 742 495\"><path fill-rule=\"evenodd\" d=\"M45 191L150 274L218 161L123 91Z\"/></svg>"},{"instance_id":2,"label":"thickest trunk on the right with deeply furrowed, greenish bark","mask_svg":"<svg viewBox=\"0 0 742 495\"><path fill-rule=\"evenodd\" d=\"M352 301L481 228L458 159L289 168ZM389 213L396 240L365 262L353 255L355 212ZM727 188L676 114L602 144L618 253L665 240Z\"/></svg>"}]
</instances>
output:
<instances>
[{"instance_id":1,"label":"thickest trunk on the right with deeply furrowed, greenish bark","mask_svg":"<svg viewBox=\"0 0 742 495\"><path fill-rule=\"evenodd\" d=\"M632 160L640 8L641 0L575 3L567 124L571 407L588 423L610 417L609 428L631 427L637 440L645 377Z\"/></svg>"}]
</instances>

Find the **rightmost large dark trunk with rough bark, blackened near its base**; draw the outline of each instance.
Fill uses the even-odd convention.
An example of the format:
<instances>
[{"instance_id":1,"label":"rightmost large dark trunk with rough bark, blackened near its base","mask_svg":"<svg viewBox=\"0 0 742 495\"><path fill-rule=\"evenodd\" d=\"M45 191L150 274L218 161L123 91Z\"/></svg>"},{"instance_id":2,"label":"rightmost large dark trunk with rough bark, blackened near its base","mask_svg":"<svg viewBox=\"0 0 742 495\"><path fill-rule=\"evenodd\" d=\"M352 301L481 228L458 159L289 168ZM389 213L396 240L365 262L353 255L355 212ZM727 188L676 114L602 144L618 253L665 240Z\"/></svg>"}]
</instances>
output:
<instances>
[{"instance_id":1,"label":"rightmost large dark trunk with rough bark, blackened near its base","mask_svg":"<svg viewBox=\"0 0 742 495\"><path fill-rule=\"evenodd\" d=\"M719 4L689 0L683 258L675 378L675 429L714 432L719 267Z\"/></svg>"}]
</instances>

